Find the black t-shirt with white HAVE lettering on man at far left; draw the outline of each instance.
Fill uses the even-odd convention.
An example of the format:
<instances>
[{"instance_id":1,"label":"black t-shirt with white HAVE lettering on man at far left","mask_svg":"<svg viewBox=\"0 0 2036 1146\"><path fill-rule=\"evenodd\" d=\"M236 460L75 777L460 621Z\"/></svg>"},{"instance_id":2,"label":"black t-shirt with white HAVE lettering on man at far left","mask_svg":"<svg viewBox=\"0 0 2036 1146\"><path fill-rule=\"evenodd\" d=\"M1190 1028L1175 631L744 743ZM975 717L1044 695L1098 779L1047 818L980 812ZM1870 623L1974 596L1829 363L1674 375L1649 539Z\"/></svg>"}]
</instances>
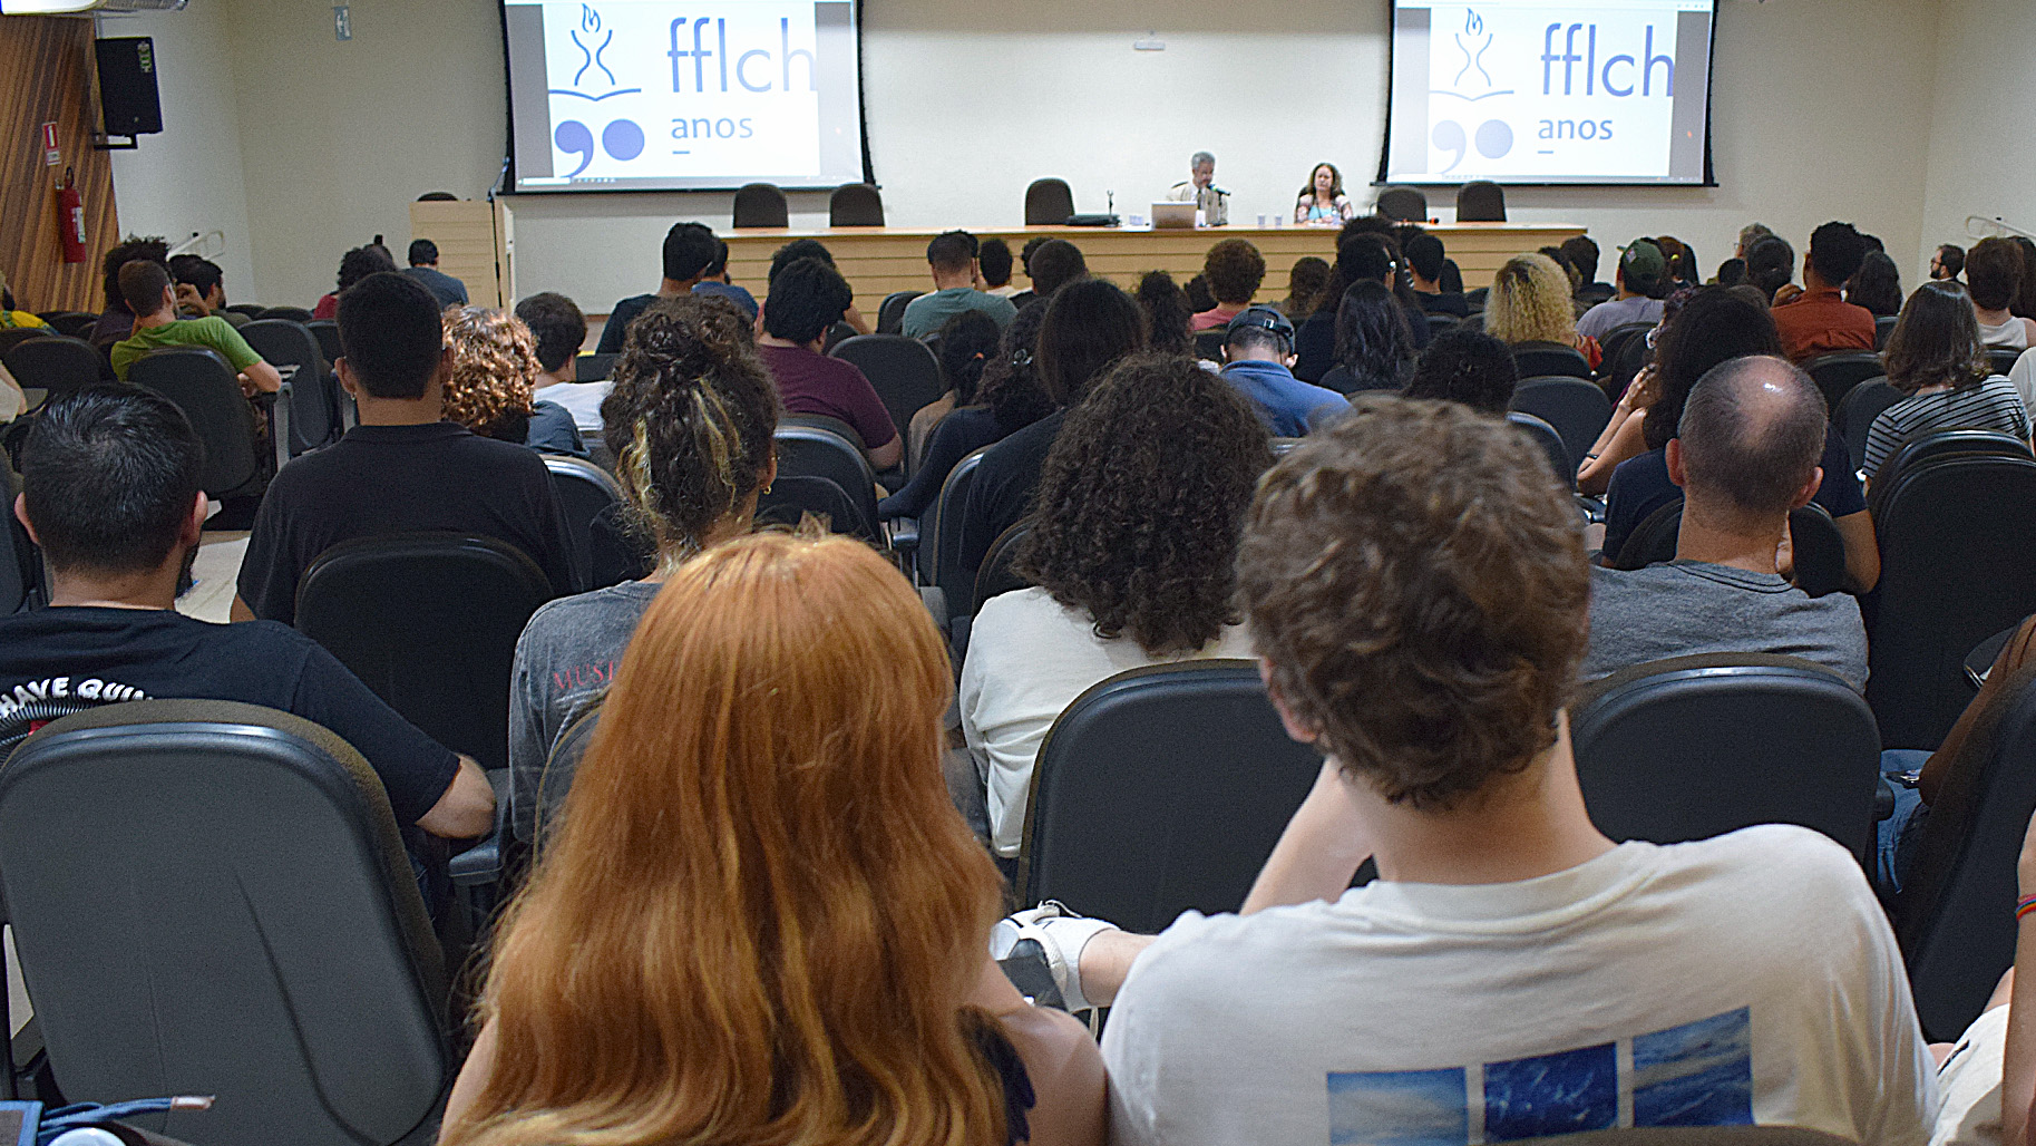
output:
<instances>
[{"instance_id":1,"label":"black t-shirt with white HAVE lettering on man at far left","mask_svg":"<svg viewBox=\"0 0 2036 1146\"><path fill-rule=\"evenodd\" d=\"M460 767L285 625L210 625L165 609L0 617L0 757L49 721L122 700L238 700L322 725L381 776L401 826L430 812Z\"/></svg>"}]
</instances>

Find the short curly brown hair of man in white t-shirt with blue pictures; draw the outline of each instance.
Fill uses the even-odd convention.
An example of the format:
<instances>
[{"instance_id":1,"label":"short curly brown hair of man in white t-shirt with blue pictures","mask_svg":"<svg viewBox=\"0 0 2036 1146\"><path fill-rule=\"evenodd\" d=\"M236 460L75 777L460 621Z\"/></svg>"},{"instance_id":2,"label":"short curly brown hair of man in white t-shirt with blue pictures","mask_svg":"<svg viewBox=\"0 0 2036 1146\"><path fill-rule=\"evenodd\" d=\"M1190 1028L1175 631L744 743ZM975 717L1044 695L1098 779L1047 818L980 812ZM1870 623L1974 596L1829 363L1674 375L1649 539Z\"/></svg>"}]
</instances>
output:
<instances>
[{"instance_id":1,"label":"short curly brown hair of man in white t-shirt with blue pictures","mask_svg":"<svg viewBox=\"0 0 2036 1146\"><path fill-rule=\"evenodd\" d=\"M1590 641L1590 566L1527 436L1362 395L1264 476L1238 596L1272 692L1346 776L1452 808L1556 743Z\"/></svg>"}]
</instances>

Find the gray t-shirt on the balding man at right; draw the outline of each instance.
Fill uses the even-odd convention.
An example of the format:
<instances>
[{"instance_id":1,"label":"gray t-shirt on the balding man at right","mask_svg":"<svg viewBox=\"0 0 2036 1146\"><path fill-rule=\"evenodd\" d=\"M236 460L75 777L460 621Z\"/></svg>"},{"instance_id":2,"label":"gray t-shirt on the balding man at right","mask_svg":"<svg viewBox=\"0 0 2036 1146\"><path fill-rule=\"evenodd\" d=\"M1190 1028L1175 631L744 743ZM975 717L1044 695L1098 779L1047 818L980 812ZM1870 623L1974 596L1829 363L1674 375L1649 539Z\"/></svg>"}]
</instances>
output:
<instances>
[{"instance_id":1,"label":"gray t-shirt on the balding man at right","mask_svg":"<svg viewBox=\"0 0 2036 1146\"><path fill-rule=\"evenodd\" d=\"M1696 653L1777 653L1867 688L1867 625L1845 592L1810 596L1777 574L1706 562L1590 570L1584 680Z\"/></svg>"}]
</instances>

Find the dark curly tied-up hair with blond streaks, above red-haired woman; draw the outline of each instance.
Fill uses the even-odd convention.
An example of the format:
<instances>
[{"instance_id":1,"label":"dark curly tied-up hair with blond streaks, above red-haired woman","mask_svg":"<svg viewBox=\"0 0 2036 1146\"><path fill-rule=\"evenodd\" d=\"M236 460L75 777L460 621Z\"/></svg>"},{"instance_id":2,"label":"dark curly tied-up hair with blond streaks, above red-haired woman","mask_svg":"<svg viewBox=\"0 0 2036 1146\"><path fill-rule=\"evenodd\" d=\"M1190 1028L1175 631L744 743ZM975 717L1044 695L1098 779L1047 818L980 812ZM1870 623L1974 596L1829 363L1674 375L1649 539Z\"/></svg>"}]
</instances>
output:
<instances>
[{"instance_id":1,"label":"dark curly tied-up hair with blond streaks, above red-haired woman","mask_svg":"<svg viewBox=\"0 0 2036 1146\"><path fill-rule=\"evenodd\" d=\"M660 554L698 550L772 460L778 387L749 316L713 295L652 303L629 324L601 419L631 527Z\"/></svg>"}]
</instances>

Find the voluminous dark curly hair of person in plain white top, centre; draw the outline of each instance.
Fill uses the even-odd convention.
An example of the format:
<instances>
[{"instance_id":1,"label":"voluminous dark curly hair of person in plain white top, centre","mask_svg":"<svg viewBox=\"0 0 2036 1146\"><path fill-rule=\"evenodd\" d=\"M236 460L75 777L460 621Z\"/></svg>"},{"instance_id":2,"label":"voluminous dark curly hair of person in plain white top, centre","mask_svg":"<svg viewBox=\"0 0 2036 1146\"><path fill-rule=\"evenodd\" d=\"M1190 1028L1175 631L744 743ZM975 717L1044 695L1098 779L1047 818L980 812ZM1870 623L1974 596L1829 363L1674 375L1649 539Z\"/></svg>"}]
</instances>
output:
<instances>
[{"instance_id":1,"label":"voluminous dark curly hair of person in plain white top, centre","mask_svg":"<svg viewBox=\"0 0 2036 1146\"><path fill-rule=\"evenodd\" d=\"M1177 354L1126 358L1047 454L1016 570L1085 609L1097 637L1195 651L1238 619L1238 533L1270 464L1230 383Z\"/></svg>"}]
</instances>

